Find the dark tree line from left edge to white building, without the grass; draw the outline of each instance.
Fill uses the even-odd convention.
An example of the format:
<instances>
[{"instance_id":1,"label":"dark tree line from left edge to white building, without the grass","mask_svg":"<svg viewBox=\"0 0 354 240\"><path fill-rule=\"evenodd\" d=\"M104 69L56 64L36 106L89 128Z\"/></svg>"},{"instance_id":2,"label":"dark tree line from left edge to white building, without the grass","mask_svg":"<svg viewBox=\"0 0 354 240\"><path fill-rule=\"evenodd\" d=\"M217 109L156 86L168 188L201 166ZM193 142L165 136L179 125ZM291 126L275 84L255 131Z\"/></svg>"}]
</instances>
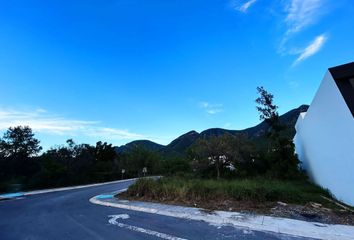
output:
<instances>
[{"instance_id":1,"label":"dark tree line from left edge to white building, without the grass","mask_svg":"<svg viewBox=\"0 0 354 240\"><path fill-rule=\"evenodd\" d=\"M273 95L263 87L257 88L257 91L260 120L269 126L268 131L260 136L263 139L261 144L259 139L256 141L237 133L202 136L185 154L169 156L138 146L127 152L118 152L106 142L97 142L92 146L77 144L69 139L65 144L43 152L30 127L11 127L0 139L0 191L59 187L145 175L215 179L220 181L215 184L219 187L227 185L222 179L233 182L235 179L241 181L255 177L305 180L306 174L294 153L292 139L285 134L288 129L280 124ZM261 181L254 183L257 185ZM283 192L267 193L263 198L276 194L281 196ZM262 200L261 195L258 197Z\"/></svg>"}]
</instances>

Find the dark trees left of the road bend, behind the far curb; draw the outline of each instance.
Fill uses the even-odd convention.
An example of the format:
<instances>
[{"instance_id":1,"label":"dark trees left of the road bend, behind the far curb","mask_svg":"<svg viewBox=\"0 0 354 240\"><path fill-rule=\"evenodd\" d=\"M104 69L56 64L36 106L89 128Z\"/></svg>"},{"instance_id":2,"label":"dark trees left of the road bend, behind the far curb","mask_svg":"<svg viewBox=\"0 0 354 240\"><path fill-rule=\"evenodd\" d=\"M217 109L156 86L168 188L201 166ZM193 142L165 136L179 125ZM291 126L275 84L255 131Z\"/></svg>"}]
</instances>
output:
<instances>
[{"instance_id":1,"label":"dark trees left of the road bend, behind the far curb","mask_svg":"<svg viewBox=\"0 0 354 240\"><path fill-rule=\"evenodd\" d=\"M41 150L39 140L28 126L11 127L4 133L0 139L0 192L161 174L167 166L154 152L136 148L118 154L106 142L76 144L69 139L63 145Z\"/></svg>"}]
</instances>

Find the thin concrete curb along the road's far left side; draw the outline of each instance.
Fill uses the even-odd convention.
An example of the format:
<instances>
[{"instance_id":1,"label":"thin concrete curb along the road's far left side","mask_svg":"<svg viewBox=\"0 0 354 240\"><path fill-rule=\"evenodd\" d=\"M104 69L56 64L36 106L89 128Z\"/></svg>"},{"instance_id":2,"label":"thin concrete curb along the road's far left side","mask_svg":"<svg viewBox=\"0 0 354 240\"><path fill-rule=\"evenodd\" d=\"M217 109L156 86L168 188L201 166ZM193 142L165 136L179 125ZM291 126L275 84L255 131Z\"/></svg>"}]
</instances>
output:
<instances>
[{"instance_id":1,"label":"thin concrete curb along the road's far left side","mask_svg":"<svg viewBox=\"0 0 354 240\"><path fill-rule=\"evenodd\" d=\"M68 191L68 190L73 190L73 189L102 186L102 185L107 185L107 184L112 184L112 183L129 182L129 181L137 180L137 179L138 178L131 178L131 179L117 180L117 181L104 182L104 183L93 183L93 184L71 186L71 187L50 188L50 189L35 190L35 191L28 191L28 192L7 193L7 194L0 195L0 201L23 197L23 196L37 195L37 194L42 194L42 193L61 192L61 191Z\"/></svg>"}]
</instances>

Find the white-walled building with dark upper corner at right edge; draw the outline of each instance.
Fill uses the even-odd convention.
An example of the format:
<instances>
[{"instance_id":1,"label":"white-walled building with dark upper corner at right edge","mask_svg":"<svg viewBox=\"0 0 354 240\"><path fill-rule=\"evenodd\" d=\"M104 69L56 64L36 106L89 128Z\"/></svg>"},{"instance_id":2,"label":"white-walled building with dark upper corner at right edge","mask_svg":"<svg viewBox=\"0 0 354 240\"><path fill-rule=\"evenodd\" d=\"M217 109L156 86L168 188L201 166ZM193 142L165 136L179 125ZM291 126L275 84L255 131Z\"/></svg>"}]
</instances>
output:
<instances>
[{"instance_id":1,"label":"white-walled building with dark upper corner at right edge","mask_svg":"<svg viewBox=\"0 0 354 240\"><path fill-rule=\"evenodd\" d=\"M310 178L354 206L354 62L328 69L295 128L296 152Z\"/></svg>"}]
</instances>

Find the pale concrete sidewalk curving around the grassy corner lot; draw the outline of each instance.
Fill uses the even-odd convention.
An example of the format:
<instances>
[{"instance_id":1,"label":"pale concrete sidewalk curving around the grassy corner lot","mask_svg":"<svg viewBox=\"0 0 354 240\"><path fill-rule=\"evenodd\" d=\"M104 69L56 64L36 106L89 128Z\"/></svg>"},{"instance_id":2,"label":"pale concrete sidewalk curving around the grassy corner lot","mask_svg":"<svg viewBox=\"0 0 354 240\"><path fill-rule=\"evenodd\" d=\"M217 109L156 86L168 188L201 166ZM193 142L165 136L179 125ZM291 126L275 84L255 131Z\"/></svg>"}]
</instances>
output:
<instances>
[{"instance_id":1,"label":"pale concrete sidewalk curving around the grassy corner lot","mask_svg":"<svg viewBox=\"0 0 354 240\"><path fill-rule=\"evenodd\" d=\"M90 202L103 206L153 213L188 220L204 221L217 227L235 226L249 230L272 232L313 239L354 240L354 226L329 225L288 218L250 215L238 212L214 211L210 213L199 208L119 200L114 197L117 193L118 192L101 194L91 198Z\"/></svg>"}]
</instances>

